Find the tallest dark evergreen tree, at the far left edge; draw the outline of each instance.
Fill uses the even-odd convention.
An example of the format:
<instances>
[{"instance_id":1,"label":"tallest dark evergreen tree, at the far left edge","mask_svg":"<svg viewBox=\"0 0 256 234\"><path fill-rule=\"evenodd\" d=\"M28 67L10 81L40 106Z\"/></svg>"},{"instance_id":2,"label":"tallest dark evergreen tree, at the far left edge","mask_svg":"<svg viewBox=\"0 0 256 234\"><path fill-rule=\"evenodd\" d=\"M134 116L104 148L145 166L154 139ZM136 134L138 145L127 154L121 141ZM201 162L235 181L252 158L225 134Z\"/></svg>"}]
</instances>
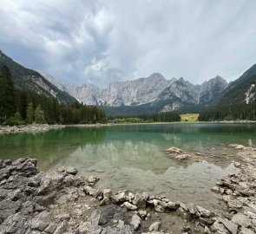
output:
<instances>
[{"instance_id":1,"label":"tallest dark evergreen tree, at the far left edge","mask_svg":"<svg viewBox=\"0 0 256 234\"><path fill-rule=\"evenodd\" d=\"M14 86L10 69L3 66L0 70L0 118L6 120L15 112Z\"/></svg>"}]
</instances>

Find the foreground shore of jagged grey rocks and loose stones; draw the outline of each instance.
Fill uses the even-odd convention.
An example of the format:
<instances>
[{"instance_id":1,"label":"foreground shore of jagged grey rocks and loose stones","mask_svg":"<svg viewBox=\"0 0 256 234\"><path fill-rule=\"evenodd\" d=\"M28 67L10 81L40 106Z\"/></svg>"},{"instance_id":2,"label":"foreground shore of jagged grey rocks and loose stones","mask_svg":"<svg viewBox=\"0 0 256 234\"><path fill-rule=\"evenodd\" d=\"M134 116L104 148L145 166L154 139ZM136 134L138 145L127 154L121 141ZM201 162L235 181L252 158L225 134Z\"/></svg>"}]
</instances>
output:
<instances>
[{"instance_id":1,"label":"foreground shore of jagged grey rocks and loose stones","mask_svg":"<svg viewBox=\"0 0 256 234\"><path fill-rule=\"evenodd\" d=\"M0 159L0 233L255 233L256 151L230 147L242 162L238 175L213 187L226 203L222 214L147 192L95 189L98 179L74 167L40 172L36 159Z\"/></svg>"}]
</instances>

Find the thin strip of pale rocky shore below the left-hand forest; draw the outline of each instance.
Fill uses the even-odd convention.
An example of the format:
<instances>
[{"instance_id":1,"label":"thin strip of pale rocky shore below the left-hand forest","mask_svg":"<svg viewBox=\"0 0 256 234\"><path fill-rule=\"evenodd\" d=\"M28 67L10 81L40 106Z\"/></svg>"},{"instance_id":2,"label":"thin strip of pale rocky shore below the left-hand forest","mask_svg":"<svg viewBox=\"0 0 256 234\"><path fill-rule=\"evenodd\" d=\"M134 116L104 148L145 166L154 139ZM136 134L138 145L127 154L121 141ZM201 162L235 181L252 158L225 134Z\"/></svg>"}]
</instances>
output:
<instances>
[{"instance_id":1,"label":"thin strip of pale rocky shore below the left-hand forest","mask_svg":"<svg viewBox=\"0 0 256 234\"><path fill-rule=\"evenodd\" d=\"M0 134L3 133L36 133L45 132L51 129L59 129L65 127L64 125L49 125L49 124L30 124L22 126L0 126Z\"/></svg>"}]
</instances>

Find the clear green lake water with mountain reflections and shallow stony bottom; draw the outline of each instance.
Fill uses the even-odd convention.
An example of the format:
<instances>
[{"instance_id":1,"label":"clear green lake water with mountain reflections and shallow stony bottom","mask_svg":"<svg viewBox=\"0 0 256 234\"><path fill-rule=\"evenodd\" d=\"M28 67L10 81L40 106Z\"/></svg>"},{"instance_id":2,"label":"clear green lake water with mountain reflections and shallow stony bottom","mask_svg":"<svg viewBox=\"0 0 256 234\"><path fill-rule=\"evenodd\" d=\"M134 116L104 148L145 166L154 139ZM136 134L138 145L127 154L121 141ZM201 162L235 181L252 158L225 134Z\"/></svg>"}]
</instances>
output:
<instances>
[{"instance_id":1,"label":"clear green lake water with mountain reflections and shallow stony bottom","mask_svg":"<svg viewBox=\"0 0 256 234\"><path fill-rule=\"evenodd\" d=\"M174 201L218 208L210 189L233 166L229 144L256 145L253 124L168 124L111 127L67 127L45 133L0 135L0 158L38 159L41 170L75 166L79 174L96 175L96 186L166 195ZM200 162L177 162L170 146L200 152ZM226 155L223 155L226 153Z\"/></svg>"}]
</instances>

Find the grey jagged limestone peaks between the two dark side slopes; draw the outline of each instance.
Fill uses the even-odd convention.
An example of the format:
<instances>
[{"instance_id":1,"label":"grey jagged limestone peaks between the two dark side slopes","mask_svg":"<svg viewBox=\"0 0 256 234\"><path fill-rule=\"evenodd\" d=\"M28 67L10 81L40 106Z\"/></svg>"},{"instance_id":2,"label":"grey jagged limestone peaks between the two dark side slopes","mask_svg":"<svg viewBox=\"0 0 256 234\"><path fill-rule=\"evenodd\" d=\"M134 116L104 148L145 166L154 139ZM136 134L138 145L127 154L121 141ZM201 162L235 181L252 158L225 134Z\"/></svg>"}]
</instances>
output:
<instances>
[{"instance_id":1,"label":"grey jagged limestone peaks between the two dark side slopes","mask_svg":"<svg viewBox=\"0 0 256 234\"><path fill-rule=\"evenodd\" d=\"M220 76L194 85L183 78L166 80L161 74L154 73L134 81L114 81L101 89L93 84L62 84L50 75L42 75L57 88L87 105L140 107L150 104L151 107L155 106L156 112L178 110L187 105L210 106L228 85Z\"/></svg>"}]
</instances>

